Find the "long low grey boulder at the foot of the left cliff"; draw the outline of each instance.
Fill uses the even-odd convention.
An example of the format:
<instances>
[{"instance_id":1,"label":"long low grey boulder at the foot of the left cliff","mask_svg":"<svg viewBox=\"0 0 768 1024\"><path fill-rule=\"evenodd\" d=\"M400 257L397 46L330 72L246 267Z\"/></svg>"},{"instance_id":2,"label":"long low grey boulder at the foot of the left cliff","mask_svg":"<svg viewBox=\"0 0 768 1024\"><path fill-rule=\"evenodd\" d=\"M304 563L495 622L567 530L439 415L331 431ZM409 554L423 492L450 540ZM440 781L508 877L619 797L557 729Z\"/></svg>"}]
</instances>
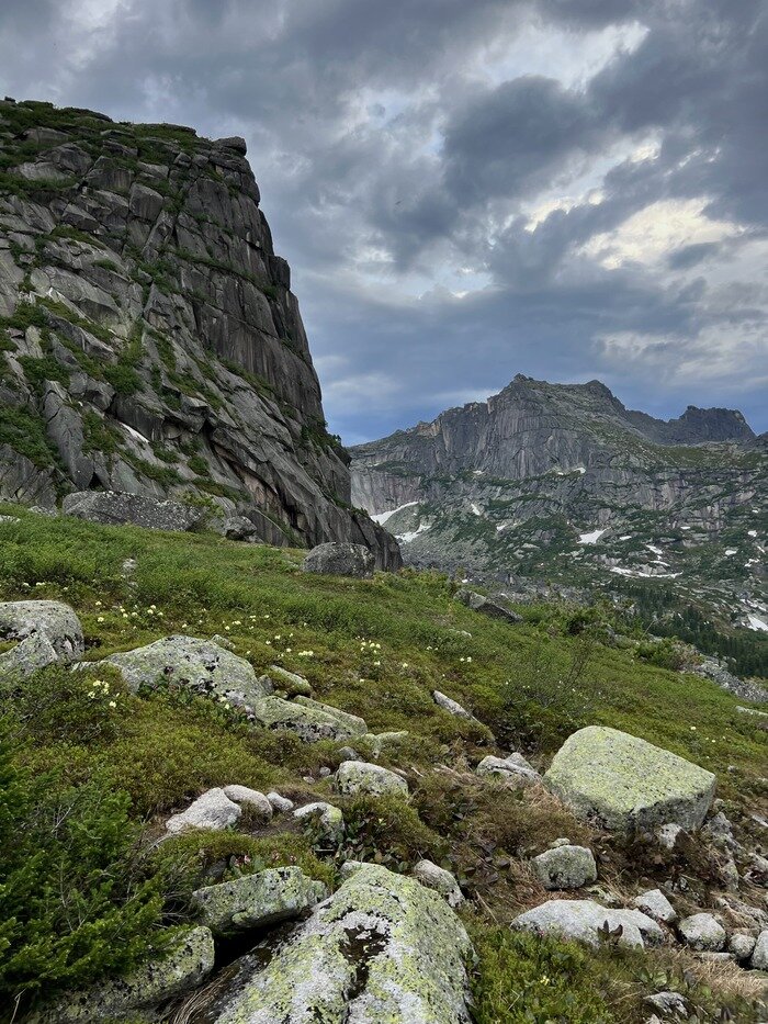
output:
<instances>
[{"instance_id":1,"label":"long low grey boulder at the foot of the left cliff","mask_svg":"<svg viewBox=\"0 0 768 1024\"><path fill-rule=\"evenodd\" d=\"M140 526L151 530L192 530L205 513L178 502L159 502L145 494L124 491L76 491L61 502L67 516L108 526Z\"/></svg>"}]
</instances>

